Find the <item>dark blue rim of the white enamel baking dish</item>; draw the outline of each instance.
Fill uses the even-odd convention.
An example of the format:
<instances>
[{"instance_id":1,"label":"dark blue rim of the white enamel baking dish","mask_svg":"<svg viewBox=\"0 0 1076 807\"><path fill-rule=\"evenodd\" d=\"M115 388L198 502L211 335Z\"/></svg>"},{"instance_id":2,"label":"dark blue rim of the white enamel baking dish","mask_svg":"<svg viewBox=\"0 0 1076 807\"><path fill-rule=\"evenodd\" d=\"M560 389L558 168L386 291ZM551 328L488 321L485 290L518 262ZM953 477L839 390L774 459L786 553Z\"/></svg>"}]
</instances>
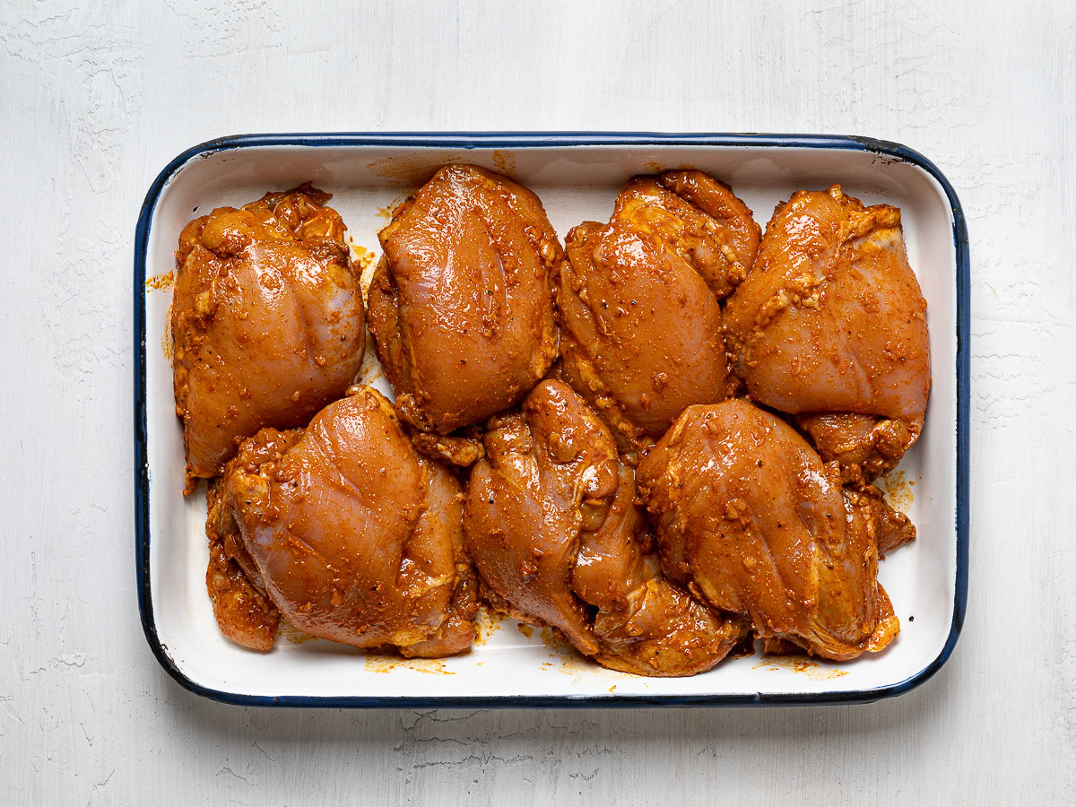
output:
<instances>
[{"instance_id":1,"label":"dark blue rim of the white enamel baking dish","mask_svg":"<svg viewBox=\"0 0 1076 807\"><path fill-rule=\"evenodd\" d=\"M175 665L157 636L150 590L150 469L145 382L145 261L150 225L165 186L196 157L250 146L410 146L416 148L541 148L601 145L710 145L717 147L837 148L867 152L918 166L945 190L952 209L957 253L957 591L952 623L937 657L916 675L888 686L849 692L744 695L609 695L609 696L427 696L362 697L317 695L243 695L213 690L192 681ZM366 708L609 708L646 706L812 706L865 704L903 695L929 680L949 660L964 624L968 564L968 422L971 406L971 268L964 211L945 174L926 157L900 143L872 138L827 134L669 134L659 132L391 132L239 134L188 148L169 162L146 193L134 233L134 560L142 629L160 666L180 685L198 695L238 706L366 707Z\"/></svg>"}]
</instances>

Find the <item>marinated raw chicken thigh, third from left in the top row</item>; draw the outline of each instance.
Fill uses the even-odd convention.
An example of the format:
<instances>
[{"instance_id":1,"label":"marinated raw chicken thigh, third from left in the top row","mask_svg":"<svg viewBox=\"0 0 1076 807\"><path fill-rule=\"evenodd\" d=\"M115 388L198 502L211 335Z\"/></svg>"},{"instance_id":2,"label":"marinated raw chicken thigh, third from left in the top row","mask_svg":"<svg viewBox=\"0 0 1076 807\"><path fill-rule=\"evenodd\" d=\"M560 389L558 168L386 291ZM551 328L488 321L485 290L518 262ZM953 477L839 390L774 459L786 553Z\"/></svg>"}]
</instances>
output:
<instances>
[{"instance_id":1,"label":"marinated raw chicken thigh, third from left in the top row","mask_svg":"<svg viewBox=\"0 0 1076 807\"><path fill-rule=\"evenodd\" d=\"M622 451L652 444L692 404L725 397L719 300L747 277L759 237L747 206L700 171L636 178L608 225L568 233L557 374Z\"/></svg>"}]
</instances>

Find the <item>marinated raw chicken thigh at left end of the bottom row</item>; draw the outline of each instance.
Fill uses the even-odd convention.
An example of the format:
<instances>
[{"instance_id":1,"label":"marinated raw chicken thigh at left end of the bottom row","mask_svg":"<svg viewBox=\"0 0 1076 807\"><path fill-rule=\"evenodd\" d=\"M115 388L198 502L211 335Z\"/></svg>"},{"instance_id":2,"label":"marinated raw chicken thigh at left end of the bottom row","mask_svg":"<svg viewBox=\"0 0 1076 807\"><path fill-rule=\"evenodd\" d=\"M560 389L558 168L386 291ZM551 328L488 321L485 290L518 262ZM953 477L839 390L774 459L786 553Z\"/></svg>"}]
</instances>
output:
<instances>
[{"instance_id":1,"label":"marinated raw chicken thigh at left end of the bottom row","mask_svg":"<svg viewBox=\"0 0 1076 807\"><path fill-rule=\"evenodd\" d=\"M312 636L405 656L452 655L475 638L461 484L415 451L372 387L306 429L245 440L210 522L210 595L241 645L271 647L270 604Z\"/></svg>"}]
</instances>

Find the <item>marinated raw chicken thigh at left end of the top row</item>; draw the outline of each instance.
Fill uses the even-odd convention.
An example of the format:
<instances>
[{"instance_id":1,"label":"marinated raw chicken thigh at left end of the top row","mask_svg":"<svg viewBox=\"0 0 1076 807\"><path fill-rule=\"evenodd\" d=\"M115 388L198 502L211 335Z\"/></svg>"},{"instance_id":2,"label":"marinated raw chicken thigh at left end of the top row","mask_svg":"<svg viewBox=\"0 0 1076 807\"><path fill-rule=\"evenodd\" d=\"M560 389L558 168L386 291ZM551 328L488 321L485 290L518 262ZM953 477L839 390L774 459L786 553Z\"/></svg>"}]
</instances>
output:
<instances>
[{"instance_id":1,"label":"marinated raw chicken thigh at left end of the top row","mask_svg":"<svg viewBox=\"0 0 1076 807\"><path fill-rule=\"evenodd\" d=\"M328 195L309 185L190 222L175 253L175 411L186 492L259 428L305 426L363 363L363 295Z\"/></svg>"}]
</instances>

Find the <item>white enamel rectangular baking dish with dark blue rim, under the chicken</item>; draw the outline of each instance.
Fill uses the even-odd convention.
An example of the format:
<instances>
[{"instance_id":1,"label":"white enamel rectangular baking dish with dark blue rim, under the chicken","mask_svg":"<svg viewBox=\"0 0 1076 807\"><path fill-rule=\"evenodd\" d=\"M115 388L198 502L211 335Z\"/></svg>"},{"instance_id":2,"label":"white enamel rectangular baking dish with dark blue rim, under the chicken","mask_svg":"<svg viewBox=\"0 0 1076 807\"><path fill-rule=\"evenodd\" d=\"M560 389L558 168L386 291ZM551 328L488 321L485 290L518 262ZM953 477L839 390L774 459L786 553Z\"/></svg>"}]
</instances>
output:
<instances>
[{"instance_id":1,"label":"white enamel rectangular baking dish with dark blue rim, under the chicken","mask_svg":"<svg viewBox=\"0 0 1076 807\"><path fill-rule=\"evenodd\" d=\"M698 168L730 183L765 226L798 188L839 183L901 208L928 300L933 388L917 445L888 481L919 528L881 563L901 619L882 653L835 664L753 656L693 678L598 667L542 632L483 620L473 650L405 661L282 636L254 653L221 635L206 593L204 485L184 498L166 330L176 239L193 217L306 181L334 194L356 255L378 254L387 211L448 162L472 162L535 190L563 237L605 222L631 176ZM866 703L898 695L945 664L964 617L968 553L968 253L960 202L926 158L876 140L769 134L256 134L195 146L146 194L134 243L134 555L139 608L157 660L183 686L231 704L324 707L733 706ZM372 354L372 350L369 351ZM364 377L380 376L376 359ZM377 383L388 392L384 379ZM903 479L903 481L902 481Z\"/></svg>"}]
</instances>

